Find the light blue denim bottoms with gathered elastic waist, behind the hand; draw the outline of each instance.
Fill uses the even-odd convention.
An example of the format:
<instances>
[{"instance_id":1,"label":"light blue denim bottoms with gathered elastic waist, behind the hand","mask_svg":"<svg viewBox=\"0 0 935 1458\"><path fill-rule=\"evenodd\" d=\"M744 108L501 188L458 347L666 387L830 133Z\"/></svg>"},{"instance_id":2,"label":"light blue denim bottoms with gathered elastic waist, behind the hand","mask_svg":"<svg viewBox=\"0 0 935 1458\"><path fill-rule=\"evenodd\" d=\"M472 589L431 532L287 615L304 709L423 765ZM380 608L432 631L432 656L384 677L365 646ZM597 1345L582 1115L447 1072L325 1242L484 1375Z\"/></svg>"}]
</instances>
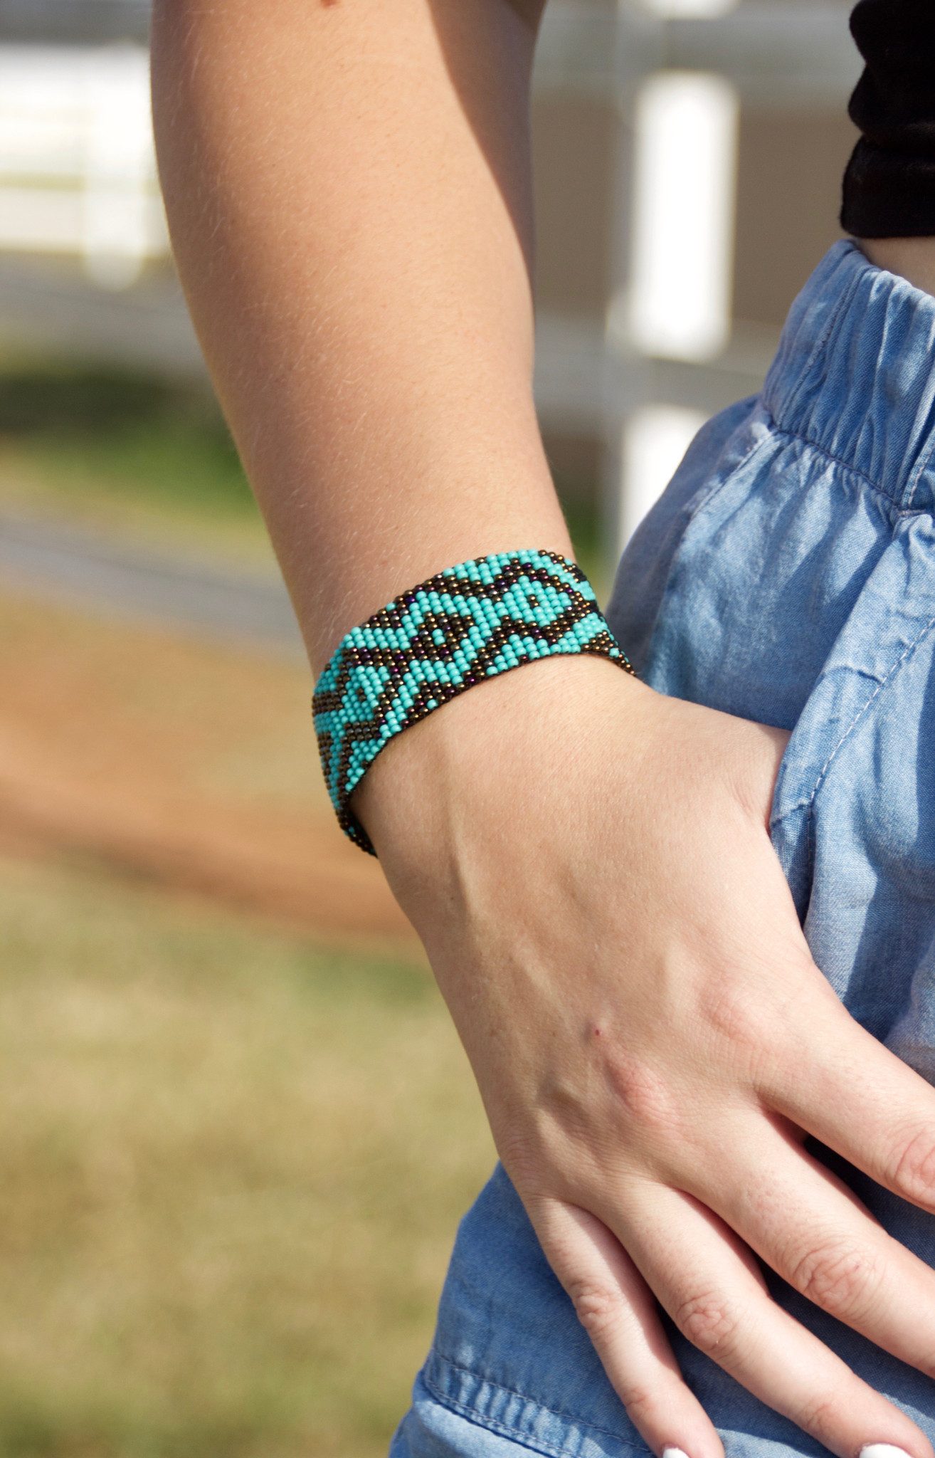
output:
<instances>
[{"instance_id":1,"label":"light blue denim bottoms with gathered elastic waist, behind the hand","mask_svg":"<svg viewBox=\"0 0 935 1458\"><path fill-rule=\"evenodd\" d=\"M762 395L709 421L609 609L664 694L792 730L772 840L817 965L935 1082L935 299L835 245ZM620 752L626 752L622 746ZM935 1264L935 1217L835 1163ZM935 1382L778 1279L778 1302L935 1441ZM728 1458L823 1449L671 1331ZM647 1452L497 1169L462 1222L392 1458Z\"/></svg>"}]
</instances>

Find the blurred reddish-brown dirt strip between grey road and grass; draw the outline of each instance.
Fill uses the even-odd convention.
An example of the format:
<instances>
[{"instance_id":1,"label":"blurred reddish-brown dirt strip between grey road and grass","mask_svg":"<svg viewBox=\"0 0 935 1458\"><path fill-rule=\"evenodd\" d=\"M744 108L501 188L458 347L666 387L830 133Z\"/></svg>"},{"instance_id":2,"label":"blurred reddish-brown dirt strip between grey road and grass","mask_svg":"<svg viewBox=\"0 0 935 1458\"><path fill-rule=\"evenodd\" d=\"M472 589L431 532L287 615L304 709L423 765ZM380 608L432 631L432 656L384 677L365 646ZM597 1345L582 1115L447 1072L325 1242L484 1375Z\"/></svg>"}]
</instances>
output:
<instances>
[{"instance_id":1,"label":"blurred reddish-brown dirt strip between grey road and grass","mask_svg":"<svg viewBox=\"0 0 935 1458\"><path fill-rule=\"evenodd\" d=\"M319 936L415 946L338 830L299 663L4 593L0 682L0 850L93 856Z\"/></svg>"}]
</instances>

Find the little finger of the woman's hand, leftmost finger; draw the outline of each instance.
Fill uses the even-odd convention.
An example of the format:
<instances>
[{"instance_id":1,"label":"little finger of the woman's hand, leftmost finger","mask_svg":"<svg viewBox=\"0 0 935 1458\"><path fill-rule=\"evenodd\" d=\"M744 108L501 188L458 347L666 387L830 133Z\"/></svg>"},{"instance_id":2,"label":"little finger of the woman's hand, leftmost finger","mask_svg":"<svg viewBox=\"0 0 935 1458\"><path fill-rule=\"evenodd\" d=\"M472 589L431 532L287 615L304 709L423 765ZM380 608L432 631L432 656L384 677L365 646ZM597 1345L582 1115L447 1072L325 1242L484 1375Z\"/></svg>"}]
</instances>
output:
<instances>
[{"instance_id":1,"label":"little finger of the woman's hand, leftmost finger","mask_svg":"<svg viewBox=\"0 0 935 1458\"><path fill-rule=\"evenodd\" d=\"M721 1439L682 1379L652 1295L619 1241L575 1206L542 1200L527 1209L552 1270L652 1452L724 1458Z\"/></svg>"}]
</instances>

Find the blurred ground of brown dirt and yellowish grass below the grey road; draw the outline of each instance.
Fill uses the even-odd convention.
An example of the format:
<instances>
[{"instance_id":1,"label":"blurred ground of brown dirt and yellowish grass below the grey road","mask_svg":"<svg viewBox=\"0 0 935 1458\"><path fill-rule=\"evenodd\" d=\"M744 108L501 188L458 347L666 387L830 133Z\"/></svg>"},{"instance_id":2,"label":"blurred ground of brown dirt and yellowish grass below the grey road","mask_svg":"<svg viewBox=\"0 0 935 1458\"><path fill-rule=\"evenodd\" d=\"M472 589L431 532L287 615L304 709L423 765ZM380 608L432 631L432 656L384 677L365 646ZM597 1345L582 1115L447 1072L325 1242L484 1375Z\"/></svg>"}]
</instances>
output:
<instances>
[{"instance_id":1,"label":"blurred ground of brown dirt and yellowish grass below the grey road","mask_svg":"<svg viewBox=\"0 0 935 1458\"><path fill-rule=\"evenodd\" d=\"M0 599L0 1458L377 1458L492 1162L309 679Z\"/></svg>"}]
</instances>

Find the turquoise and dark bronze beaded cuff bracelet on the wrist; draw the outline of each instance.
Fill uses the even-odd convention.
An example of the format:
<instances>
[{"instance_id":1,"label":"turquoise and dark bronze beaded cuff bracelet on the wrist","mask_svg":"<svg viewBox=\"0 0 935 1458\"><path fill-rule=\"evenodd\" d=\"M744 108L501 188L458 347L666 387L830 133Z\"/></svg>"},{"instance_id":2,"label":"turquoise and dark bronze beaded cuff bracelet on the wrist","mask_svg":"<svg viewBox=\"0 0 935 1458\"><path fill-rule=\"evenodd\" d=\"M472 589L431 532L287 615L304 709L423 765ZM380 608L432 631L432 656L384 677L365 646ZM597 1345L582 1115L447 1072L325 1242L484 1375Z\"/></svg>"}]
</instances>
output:
<instances>
[{"instance_id":1,"label":"turquoise and dark bronze beaded cuff bracelet on the wrist","mask_svg":"<svg viewBox=\"0 0 935 1458\"><path fill-rule=\"evenodd\" d=\"M494 553L447 567L352 628L312 700L344 833L376 854L350 799L393 735L473 684L553 653L594 653L634 672L584 573L551 551Z\"/></svg>"}]
</instances>

